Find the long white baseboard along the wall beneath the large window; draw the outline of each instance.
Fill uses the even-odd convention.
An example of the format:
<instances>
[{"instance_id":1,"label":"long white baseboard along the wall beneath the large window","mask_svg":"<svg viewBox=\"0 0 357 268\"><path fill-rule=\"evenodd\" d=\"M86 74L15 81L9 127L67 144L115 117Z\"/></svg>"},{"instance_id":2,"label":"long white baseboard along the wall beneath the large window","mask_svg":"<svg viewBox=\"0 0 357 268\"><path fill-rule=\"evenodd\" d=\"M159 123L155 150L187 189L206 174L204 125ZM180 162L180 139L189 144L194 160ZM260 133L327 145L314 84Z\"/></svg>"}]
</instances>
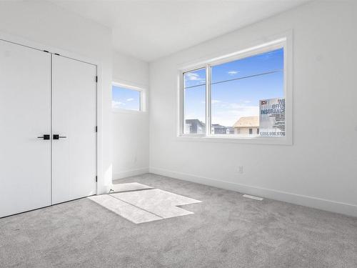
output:
<instances>
[{"instance_id":1,"label":"long white baseboard along the wall beneath the large window","mask_svg":"<svg viewBox=\"0 0 357 268\"><path fill-rule=\"evenodd\" d=\"M150 173L159 174L175 179L181 179L188 182L196 182L198 184L206 184L213 187L222 189L228 189L231 191L241 192L242 194L251 194L258 197L265 197L268 199L274 199L278 201L288 202L292 204L298 204L305 207L313 207L315 209L322 209L328 212L336 212L346 214L348 216L357 217L357 205L347 204L343 202L336 202L327 199L321 199L316 197L308 197L301 194L293 194L289 192L281 192L273 189L265 189L259 187L253 187L246 184L236 184L234 182L224 182L217 179L211 179L207 177L200 177L191 174L185 174L181 172L174 172L171 170L160 169L156 167L150 167Z\"/></svg>"}]
</instances>

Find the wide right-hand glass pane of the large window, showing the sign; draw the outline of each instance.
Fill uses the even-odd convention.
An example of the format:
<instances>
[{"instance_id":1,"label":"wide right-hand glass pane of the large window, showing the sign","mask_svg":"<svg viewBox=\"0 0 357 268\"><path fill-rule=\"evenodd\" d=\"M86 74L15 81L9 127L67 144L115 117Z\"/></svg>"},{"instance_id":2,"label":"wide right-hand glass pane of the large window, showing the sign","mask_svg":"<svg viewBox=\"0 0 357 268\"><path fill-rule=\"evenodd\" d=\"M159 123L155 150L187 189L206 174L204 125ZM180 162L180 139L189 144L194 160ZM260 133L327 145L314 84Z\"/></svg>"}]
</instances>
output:
<instances>
[{"instance_id":1,"label":"wide right-hand glass pane of the large window, showing the sign","mask_svg":"<svg viewBox=\"0 0 357 268\"><path fill-rule=\"evenodd\" d=\"M272 52L211 67L211 134L285 135L283 51ZM254 75L226 81L227 66L237 67L234 75Z\"/></svg>"}]
</instances>

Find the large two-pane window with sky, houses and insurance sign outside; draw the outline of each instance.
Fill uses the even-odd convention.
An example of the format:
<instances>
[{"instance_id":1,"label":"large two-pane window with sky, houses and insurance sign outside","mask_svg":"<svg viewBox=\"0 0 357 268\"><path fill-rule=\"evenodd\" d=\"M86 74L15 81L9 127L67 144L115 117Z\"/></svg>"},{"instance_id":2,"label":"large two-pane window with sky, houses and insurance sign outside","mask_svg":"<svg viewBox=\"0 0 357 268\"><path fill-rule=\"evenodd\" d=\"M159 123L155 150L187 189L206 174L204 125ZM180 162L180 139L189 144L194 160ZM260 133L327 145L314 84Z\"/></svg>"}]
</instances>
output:
<instances>
[{"instance_id":1,"label":"large two-pane window with sky, houses and insurance sign outside","mask_svg":"<svg viewBox=\"0 0 357 268\"><path fill-rule=\"evenodd\" d=\"M281 42L183 71L181 135L286 137L285 50Z\"/></svg>"}]
</instances>

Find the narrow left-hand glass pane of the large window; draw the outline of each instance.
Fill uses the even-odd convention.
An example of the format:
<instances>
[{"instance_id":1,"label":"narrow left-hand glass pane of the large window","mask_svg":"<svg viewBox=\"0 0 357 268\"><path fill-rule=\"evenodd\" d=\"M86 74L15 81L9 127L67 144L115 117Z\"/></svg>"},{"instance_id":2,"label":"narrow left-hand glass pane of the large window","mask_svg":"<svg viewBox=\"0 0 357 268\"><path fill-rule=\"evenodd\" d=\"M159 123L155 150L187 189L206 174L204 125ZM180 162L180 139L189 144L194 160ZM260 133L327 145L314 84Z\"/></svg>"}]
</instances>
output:
<instances>
[{"instance_id":1,"label":"narrow left-hand glass pane of the large window","mask_svg":"<svg viewBox=\"0 0 357 268\"><path fill-rule=\"evenodd\" d=\"M183 133L206 133L206 69L183 73Z\"/></svg>"}]
</instances>

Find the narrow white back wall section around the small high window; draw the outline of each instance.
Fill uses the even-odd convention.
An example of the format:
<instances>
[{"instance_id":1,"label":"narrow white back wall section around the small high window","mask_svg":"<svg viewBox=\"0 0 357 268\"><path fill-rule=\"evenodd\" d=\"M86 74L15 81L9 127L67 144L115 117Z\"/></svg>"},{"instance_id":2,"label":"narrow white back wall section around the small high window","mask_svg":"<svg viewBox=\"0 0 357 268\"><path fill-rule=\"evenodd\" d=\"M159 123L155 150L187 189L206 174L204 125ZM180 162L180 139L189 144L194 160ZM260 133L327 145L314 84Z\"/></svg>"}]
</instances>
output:
<instances>
[{"instance_id":1,"label":"narrow white back wall section around the small high window","mask_svg":"<svg viewBox=\"0 0 357 268\"><path fill-rule=\"evenodd\" d=\"M147 100L149 64L118 52L113 59L113 81L146 89ZM149 172L149 107L113 114L113 179Z\"/></svg>"}]
</instances>

